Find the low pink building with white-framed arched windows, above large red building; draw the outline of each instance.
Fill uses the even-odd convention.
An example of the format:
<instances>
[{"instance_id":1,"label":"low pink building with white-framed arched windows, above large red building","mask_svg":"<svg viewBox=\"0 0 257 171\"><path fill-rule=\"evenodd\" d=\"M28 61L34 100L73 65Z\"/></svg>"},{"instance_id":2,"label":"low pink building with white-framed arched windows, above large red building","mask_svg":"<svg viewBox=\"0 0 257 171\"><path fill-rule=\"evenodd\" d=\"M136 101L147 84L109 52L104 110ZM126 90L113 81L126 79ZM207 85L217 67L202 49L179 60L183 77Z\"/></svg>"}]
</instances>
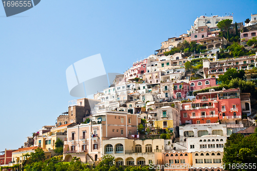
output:
<instances>
[{"instance_id":1,"label":"low pink building with white-framed arched windows, above large red building","mask_svg":"<svg viewBox=\"0 0 257 171\"><path fill-rule=\"evenodd\" d=\"M190 84L190 91L196 91L207 87L216 86L216 78L191 80L189 84Z\"/></svg>"}]
</instances>

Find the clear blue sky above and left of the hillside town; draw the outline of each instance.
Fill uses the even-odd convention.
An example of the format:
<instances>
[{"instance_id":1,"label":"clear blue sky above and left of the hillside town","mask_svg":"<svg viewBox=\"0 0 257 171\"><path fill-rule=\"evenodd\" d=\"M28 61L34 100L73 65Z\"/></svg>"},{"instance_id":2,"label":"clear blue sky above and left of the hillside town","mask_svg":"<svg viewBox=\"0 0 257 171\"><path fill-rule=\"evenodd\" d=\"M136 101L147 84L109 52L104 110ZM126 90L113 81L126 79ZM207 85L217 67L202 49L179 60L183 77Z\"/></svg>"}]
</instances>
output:
<instances>
[{"instance_id":1,"label":"clear blue sky above and left of the hillside town","mask_svg":"<svg viewBox=\"0 0 257 171\"><path fill-rule=\"evenodd\" d=\"M0 5L0 151L21 147L54 125L76 98L65 71L101 53L106 72L123 73L168 37L187 33L197 16L234 13L243 22L257 1L42 0L6 17ZM97 67L97 66L96 66Z\"/></svg>"}]
</instances>

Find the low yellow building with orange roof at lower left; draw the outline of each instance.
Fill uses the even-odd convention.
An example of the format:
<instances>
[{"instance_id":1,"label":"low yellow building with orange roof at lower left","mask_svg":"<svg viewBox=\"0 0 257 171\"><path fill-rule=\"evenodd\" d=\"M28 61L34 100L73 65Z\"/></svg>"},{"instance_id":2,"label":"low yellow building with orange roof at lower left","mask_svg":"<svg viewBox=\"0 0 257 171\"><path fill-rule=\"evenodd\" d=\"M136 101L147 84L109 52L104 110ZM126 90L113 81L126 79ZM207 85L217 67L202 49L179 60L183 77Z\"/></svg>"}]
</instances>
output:
<instances>
[{"instance_id":1,"label":"low yellow building with orange roof at lower left","mask_svg":"<svg viewBox=\"0 0 257 171\"><path fill-rule=\"evenodd\" d=\"M20 148L12 152L12 164L22 164L25 160L27 160L26 157L23 155L25 154L31 154L35 152L35 149L41 148L41 147L27 147L27 148ZM42 148L46 159L51 158L51 152L47 151L46 149Z\"/></svg>"}]
</instances>

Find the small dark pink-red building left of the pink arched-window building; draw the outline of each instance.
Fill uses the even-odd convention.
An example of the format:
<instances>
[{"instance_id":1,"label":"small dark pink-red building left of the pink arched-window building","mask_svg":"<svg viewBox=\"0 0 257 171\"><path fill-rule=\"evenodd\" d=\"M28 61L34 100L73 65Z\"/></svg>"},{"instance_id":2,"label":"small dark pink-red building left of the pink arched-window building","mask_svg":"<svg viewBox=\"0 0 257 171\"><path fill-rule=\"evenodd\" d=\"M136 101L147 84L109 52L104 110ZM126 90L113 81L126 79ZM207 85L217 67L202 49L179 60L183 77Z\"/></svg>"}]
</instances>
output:
<instances>
[{"instance_id":1,"label":"small dark pink-red building left of the pink arched-window building","mask_svg":"<svg viewBox=\"0 0 257 171\"><path fill-rule=\"evenodd\" d=\"M173 98L174 99L185 99L189 95L190 84L180 82L173 84Z\"/></svg>"}]
</instances>

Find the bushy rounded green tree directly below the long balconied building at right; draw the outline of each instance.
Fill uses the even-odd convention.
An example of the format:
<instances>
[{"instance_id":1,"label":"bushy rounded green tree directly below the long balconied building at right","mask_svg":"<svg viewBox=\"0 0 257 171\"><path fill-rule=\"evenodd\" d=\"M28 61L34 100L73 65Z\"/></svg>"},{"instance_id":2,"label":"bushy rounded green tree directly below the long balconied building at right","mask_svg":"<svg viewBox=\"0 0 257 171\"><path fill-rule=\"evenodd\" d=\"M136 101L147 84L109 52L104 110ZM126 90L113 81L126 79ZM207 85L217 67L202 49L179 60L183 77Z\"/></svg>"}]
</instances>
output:
<instances>
[{"instance_id":1,"label":"bushy rounded green tree directly below the long balconied building at right","mask_svg":"<svg viewBox=\"0 0 257 171\"><path fill-rule=\"evenodd\" d=\"M229 84L232 79L238 78L238 79L244 79L245 77L245 71L239 70L237 71L234 68L228 69L224 75L219 75L218 81L222 84Z\"/></svg>"}]
</instances>

